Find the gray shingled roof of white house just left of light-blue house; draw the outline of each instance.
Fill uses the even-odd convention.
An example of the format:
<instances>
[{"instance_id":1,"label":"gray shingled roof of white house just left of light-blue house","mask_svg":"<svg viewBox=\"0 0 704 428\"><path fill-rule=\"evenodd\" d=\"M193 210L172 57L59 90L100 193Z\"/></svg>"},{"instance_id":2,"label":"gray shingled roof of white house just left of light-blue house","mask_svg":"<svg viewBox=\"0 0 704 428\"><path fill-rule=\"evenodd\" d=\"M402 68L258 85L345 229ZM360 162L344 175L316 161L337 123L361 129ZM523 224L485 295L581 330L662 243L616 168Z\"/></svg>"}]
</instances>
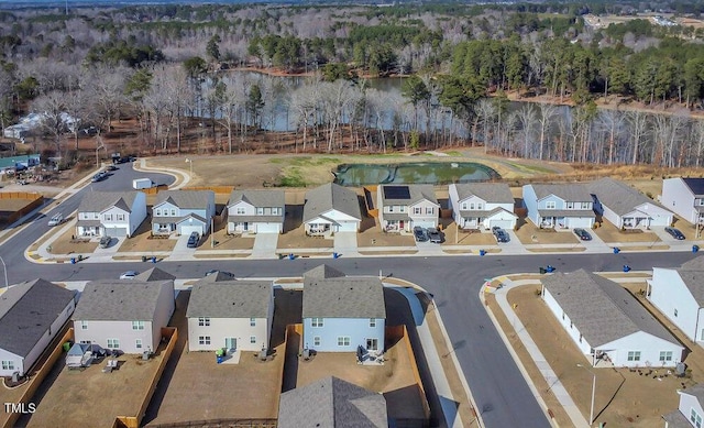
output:
<instances>
[{"instance_id":1,"label":"gray shingled roof of white house just left of light-blue house","mask_svg":"<svg viewBox=\"0 0 704 428\"><path fill-rule=\"evenodd\" d=\"M273 289L267 281L198 283L190 292L186 317L266 318Z\"/></svg>"}]
</instances>

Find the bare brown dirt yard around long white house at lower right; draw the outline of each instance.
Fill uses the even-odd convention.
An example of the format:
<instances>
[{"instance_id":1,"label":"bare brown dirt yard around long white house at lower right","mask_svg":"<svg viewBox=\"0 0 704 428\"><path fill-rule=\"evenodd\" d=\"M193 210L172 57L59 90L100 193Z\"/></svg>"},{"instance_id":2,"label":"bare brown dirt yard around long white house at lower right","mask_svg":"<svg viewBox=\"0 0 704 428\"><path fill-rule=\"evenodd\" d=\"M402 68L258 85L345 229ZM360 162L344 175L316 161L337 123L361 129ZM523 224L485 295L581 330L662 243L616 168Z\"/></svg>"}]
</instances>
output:
<instances>
[{"instance_id":1,"label":"bare brown dirt yard around long white house at lower right","mask_svg":"<svg viewBox=\"0 0 704 428\"><path fill-rule=\"evenodd\" d=\"M586 365L588 361L536 295L537 289L539 289L537 284L513 289L508 294L508 301L516 307L516 315L546 355L550 366L558 374L560 382L575 400L584 417L588 418L591 398L588 385L592 381L591 373L595 373L597 383L595 425L604 422L607 427L662 427L661 415L678 406L679 398L675 391L693 385L694 381L676 378L668 374L667 369L588 369L590 373L576 366L576 364ZM512 331L509 336L515 333ZM695 378L700 376L698 371L694 373ZM541 391L544 392L542 388Z\"/></svg>"}]
</instances>

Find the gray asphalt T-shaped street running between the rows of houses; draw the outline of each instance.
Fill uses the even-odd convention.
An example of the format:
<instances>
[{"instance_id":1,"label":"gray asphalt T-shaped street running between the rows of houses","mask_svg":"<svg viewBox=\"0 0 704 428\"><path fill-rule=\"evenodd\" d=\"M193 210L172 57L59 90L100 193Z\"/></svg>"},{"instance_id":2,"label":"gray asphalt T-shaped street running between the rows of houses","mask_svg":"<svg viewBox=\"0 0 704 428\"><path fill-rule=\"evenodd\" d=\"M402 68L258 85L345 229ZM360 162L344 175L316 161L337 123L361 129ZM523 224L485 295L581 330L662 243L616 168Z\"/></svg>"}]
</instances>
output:
<instances>
[{"instance_id":1,"label":"gray asphalt T-shaped street running between the rows of houses","mask_svg":"<svg viewBox=\"0 0 704 428\"><path fill-rule=\"evenodd\" d=\"M151 177L157 183L168 183L158 174L132 171L130 165L107 180L89 185L78 195L63 201L54 212L68 215L74 211L84 191L127 190L132 178ZM169 177L170 178L170 177ZM152 267L145 263L106 264L33 264L28 262L23 250L46 232L45 219L34 221L0 246L0 256L8 265L11 283L43 277L48 281L89 281L117 278L128 270L144 271ZM477 295L484 278L512 273L537 273L539 266L551 264L560 272L580 267L587 271L618 271L627 264L636 271L648 271L652 266L676 266L693 257L692 253L620 253L620 254L536 254L479 256L404 257L381 256L338 260L237 260L160 262L157 266L178 278L202 276L211 268L234 273L238 277L286 277L299 276L305 271L327 263L348 275L393 276L410 281L433 295L453 352L466 376L477 410L488 428L550 427L546 414L532 396L504 342L494 330L483 303Z\"/></svg>"}]
</instances>

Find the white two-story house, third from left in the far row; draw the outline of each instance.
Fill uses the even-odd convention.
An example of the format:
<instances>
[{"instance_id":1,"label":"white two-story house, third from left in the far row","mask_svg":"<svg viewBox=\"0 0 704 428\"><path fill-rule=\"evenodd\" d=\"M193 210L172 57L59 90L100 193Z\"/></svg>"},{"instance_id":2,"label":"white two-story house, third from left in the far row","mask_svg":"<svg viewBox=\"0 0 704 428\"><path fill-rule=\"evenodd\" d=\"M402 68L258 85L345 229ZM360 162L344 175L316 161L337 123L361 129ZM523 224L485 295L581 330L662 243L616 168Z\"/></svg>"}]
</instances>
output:
<instances>
[{"instance_id":1,"label":"white two-story house, third from left in the far row","mask_svg":"<svg viewBox=\"0 0 704 428\"><path fill-rule=\"evenodd\" d=\"M228 202L228 233L282 233L284 190L232 190Z\"/></svg>"}]
</instances>

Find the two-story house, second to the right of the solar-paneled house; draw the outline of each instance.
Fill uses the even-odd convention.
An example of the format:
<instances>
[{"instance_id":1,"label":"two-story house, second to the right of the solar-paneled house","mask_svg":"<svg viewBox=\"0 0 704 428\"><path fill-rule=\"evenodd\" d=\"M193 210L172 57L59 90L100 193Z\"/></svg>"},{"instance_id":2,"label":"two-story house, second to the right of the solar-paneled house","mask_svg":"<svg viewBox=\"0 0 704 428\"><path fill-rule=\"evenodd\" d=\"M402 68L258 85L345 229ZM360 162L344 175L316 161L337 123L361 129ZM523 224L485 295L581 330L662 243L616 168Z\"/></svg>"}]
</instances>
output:
<instances>
[{"instance_id":1,"label":"two-story house, second to the right of the solar-paneled house","mask_svg":"<svg viewBox=\"0 0 704 428\"><path fill-rule=\"evenodd\" d=\"M596 216L582 184L529 184L522 188L528 218L541 229L591 228Z\"/></svg>"}]
</instances>

